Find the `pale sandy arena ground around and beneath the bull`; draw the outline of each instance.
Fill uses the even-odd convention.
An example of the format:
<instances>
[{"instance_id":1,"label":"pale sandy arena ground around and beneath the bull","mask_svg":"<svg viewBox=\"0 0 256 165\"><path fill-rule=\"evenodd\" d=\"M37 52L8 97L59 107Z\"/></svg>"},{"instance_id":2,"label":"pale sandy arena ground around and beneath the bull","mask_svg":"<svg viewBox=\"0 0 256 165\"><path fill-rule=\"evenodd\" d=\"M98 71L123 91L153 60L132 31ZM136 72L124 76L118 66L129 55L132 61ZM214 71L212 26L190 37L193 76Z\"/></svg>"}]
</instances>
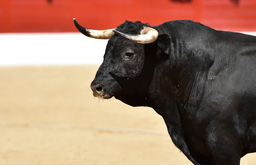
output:
<instances>
[{"instance_id":1,"label":"pale sandy arena ground around and beneath the bull","mask_svg":"<svg viewBox=\"0 0 256 165\"><path fill-rule=\"evenodd\" d=\"M93 98L97 68L0 67L0 165L192 165L153 109Z\"/></svg>"}]
</instances>

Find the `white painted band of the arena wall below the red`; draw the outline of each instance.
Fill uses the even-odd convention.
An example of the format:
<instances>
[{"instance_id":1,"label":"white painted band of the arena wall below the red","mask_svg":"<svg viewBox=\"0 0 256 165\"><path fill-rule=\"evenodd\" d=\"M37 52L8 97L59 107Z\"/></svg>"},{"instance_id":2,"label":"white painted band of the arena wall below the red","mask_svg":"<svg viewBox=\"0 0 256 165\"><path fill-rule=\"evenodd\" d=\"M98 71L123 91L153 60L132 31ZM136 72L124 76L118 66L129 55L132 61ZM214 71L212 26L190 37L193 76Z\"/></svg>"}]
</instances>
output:
<instances>
[{"instance_id":1,"label":"white painted band of the arena wall below the red","mask_svg":"<svg viewBox=\"0 0 256 165\"><path fill-rule=\"evenodd\" d=\"M0 66L101 64L107 42L81 33L0 34Z\"/></svg>"}]
</instances>

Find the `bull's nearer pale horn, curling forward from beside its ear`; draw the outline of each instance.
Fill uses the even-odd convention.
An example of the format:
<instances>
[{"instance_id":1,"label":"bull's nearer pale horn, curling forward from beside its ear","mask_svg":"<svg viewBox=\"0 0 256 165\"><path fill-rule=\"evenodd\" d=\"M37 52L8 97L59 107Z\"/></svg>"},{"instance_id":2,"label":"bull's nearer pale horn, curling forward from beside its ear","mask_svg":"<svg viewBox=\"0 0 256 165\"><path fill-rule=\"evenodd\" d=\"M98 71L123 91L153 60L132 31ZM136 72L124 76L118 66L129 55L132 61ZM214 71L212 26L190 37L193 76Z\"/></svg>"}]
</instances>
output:
<instances>
[{"instance_id":1,"label":"bull's nearer pale horn, curling forward from beside its ear","mask_svg":"<svg viewBox=\"0 0 256 165\"><path fill-rule=\"evenodd\" d=\"M158 32L154 28L144 27L139 35L131 35L131 34L125 34L117 30L113 30L116 34L119 36L123 36L126 39L129 39L130 41L140 43L140 44L148 44L151 42L154 42L157 40Z\"/></svg>"}]
</instances>

